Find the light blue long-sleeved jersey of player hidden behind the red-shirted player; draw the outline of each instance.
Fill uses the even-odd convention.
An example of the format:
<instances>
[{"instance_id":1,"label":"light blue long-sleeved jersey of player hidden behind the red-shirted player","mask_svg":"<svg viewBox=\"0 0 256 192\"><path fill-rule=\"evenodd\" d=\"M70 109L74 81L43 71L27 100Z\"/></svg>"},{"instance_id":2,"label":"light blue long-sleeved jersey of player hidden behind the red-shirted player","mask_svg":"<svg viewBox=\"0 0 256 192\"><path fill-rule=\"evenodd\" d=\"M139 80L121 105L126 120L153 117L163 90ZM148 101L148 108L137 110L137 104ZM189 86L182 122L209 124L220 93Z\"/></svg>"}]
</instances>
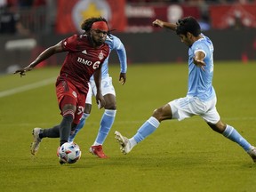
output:
<instances>
[{"instance_id":1,"label":"light blue long-sleeved jersey of player hidden behind the red-shirted player","mask_svg":"<svg viewBox=\"0 0 256 192\"><path fill-rule=\"evenodd\" d=\"M121 42L121 40L117 36L110 35L107 36L106 44L109 46L109 54L112 50L116 50L118 59L120 62L120 68L121 73L126 73L127 70L127 58L126 58L126 52L124 48L124 44ZM109 58L109 55L108 55ZM101 78L104 78L105 76L108 76L108 58L104 60L104 63L101 67ZM91 80L93 79L93 76L91 77Z\"/></svg>"}]
</instances>

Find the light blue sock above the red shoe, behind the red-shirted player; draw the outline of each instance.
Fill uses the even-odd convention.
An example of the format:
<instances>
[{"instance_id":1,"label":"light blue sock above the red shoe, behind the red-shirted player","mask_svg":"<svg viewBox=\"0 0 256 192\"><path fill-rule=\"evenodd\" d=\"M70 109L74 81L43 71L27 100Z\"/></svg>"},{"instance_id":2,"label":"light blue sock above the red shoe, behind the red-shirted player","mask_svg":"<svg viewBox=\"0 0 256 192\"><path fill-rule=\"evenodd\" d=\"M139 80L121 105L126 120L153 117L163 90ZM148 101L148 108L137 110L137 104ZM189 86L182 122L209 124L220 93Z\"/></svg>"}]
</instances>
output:
<instances>
[{"instance_id":1,"label":"light blue sock above the red shoe, behind the red-shirted player","mask_svg":"<svg viewBox=\"0 0 256 192\"><path fill-rule=\"evenodd\" d=\"M102 145L108 136L108 132L110 131L112 125L114 124L116 117L116 110L105 109L103 116L100 121L100 129L96 140L94 141L94 145Z\"/></svg>"}]
</instances>

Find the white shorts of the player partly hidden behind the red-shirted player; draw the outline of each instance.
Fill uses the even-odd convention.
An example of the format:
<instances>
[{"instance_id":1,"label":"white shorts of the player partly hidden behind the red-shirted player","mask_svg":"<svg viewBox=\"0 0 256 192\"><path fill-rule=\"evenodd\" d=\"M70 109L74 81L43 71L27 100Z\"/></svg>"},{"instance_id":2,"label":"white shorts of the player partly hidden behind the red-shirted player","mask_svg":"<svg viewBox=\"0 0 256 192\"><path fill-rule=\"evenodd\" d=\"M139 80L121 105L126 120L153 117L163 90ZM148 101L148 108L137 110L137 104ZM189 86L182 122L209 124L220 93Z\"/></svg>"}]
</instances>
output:
<instances>
[{"instance_id":1,"label":"white shorts of the player partly hidden behind the red-shirted player","mask_svg":"<svg viewBox=\"0 0 256 192\"><path fill-rule=\"evenodd\" d=\"M115 88L112 84L111 76L106 76L101 79L101 93L103 96L106 94L112 94L116 97L116 92L115 92ZM96 84L95 84L94 80L91 80L89 83L89 91L87 93L85 103L89 103L92 105L92 96L96 96L96 94L97 94Z\"/></svg>"}]
</instances>

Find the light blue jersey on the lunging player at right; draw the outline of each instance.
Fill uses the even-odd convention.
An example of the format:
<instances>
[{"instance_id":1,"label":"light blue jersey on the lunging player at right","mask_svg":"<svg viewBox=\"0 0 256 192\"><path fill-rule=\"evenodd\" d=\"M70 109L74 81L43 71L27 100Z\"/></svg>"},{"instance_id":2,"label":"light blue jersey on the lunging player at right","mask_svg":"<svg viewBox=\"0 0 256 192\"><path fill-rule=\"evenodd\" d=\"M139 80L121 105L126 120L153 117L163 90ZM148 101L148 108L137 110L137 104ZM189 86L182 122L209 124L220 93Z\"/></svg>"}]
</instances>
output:
<instances>
[{"instance_id":1,"label":"light blue jersey on the lunging player at right","mask_svg":"<svg viewBox=\"0 0 256 192\"><path fill-rule=\"evenodd\" d=\"M188 93L187 96L197 97L200 100L211 100L215 97L212 86L213 77L213 44L212 41L201 34L204 38L197 40L188 50ZM204 52L204 70L196 67L193 62L195 53Z\"/></svg>"}]
</instances>

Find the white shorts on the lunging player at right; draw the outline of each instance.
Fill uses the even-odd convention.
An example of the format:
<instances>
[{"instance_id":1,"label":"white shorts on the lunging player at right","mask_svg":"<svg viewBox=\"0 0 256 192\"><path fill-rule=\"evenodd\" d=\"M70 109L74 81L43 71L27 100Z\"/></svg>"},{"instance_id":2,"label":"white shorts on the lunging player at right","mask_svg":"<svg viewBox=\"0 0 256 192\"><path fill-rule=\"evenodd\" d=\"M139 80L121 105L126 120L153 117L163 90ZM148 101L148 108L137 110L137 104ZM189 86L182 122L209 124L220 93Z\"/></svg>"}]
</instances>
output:
<instances>
[{"instance_id":1,"label":"white shorts on the lunging player at right","mask_svg":"<svg viewBox=\"0 0 256 192\"><path fill-rule=\"evenodd\" d=\"M181 121L191 116L201 116L207 123L217 124L220 121L220 115L216 103L216 97L209 101L199 100L196 97L185 97L172 100L168 104L172 108L173 119Z\"/></svg>"}]
</instances>

